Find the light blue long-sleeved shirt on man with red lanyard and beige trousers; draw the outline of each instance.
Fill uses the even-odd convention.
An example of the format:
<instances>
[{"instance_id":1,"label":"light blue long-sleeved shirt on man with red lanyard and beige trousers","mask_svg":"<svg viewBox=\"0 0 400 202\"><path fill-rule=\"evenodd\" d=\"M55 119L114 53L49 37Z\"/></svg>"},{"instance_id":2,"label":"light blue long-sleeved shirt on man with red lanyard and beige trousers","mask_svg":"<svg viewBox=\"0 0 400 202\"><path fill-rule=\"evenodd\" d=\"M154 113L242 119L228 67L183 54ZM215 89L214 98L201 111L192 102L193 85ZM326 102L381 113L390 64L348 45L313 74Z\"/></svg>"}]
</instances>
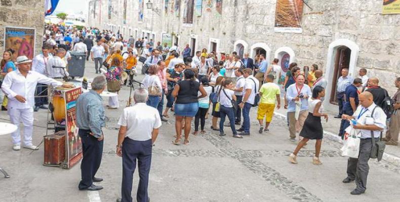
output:
<instances>
[{"instance_id":1,"label":"light blue long-sleeved shirt on man with red lanyard and beige trousers","mask_svg":"<svg viewBox=\"0 0 400 202\"><path fill-rule=\"evenodd\" d=\"M299 90L299 92L297 91ZM296 111L296 103L293 100L299 93L303 93L303 95L308 95L308 97L312 96L310 87L306 84L303 84L302 88L296 88L296 83L290 85L286 91L286 98L289 101L289 106L288 106L288 112L295 112ZM301 98L301 108L300 111L302 110L307 110L308 109L308 97L306 98Z\"/></svg>"}]
</instances>

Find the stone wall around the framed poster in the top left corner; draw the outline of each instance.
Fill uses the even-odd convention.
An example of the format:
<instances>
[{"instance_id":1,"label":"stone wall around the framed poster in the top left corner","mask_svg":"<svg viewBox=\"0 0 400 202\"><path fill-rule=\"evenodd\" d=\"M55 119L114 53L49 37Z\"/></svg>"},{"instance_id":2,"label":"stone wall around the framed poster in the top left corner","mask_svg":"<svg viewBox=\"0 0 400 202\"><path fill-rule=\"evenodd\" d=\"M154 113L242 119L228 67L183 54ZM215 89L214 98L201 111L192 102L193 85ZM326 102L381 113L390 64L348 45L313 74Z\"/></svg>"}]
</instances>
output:
<instances>
[{"instance_id":1,"label":"stone wall around the framed poster in the top left corner","mask_svg":"<svg viewBox=\"0 0 400 202\"><path fill-rule=\"evenodd\" d=\"M35 55L42 49L45 22L44 0L0 0L0 53L3 58L6 26L36 29Z\"/></svg>"}]
</instances>

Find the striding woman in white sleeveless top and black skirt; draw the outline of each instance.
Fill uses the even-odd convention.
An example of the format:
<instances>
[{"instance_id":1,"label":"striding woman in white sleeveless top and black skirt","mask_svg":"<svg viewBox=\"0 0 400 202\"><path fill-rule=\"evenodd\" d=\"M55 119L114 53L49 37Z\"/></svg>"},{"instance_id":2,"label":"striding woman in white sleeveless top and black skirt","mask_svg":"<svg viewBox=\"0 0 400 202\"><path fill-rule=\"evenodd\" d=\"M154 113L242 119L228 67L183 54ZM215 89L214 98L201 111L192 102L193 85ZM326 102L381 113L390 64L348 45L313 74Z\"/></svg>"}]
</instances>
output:
<instances>
[{"instance_id":1,"label":"striding woman in white sleeveless top and black skirt","mask_svg":"<svg viewBox=\"0 0 400 202\"><path fill-rule=\"evenodd\" d=\"M322 164L319 161L319 151L321 151L322 137L324 129L321 124L321 117L324 117L328 122L328 114L323 114L324 107L322 106L321 98L325 96L325 89L322 86L315 86L312 90L312 97L308 100L308 116L304 121L303 129L300 131L300 136L303 137L296 146L296 149L289 156L289 161L297 164L297 153L310 139L316 139L315 156L312 158L312 163L315 165Z\"/></svg>"}]
</instances>

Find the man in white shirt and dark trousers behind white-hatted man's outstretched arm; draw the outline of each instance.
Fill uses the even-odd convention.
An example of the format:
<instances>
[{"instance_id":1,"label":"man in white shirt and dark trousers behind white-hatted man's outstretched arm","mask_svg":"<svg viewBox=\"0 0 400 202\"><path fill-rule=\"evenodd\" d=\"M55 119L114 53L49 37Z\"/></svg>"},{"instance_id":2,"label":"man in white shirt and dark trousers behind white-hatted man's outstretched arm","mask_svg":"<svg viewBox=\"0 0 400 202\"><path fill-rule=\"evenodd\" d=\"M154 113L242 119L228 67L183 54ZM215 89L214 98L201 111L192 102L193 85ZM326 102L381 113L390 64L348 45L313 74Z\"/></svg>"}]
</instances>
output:
<instances>
[{"instance_id":1,"label":"man in white shirt and dark trousers behind white-hatted man's outstretched arm","mask_svg":"<svg viewBox=\"0 0 400 202\"><path fill-rule=\"evenodd\" d=\"M53 49L53 46L49 43L45 43L42 46L42 53L33 58L32 71L45 75L46 65L48 61L53 58L53 56L49 54L50 49ZM35 107L33 111L37 112L39 108L48 109L45 106L47 103L47 85L44 83L38 83L36 86Z\"/></svg>"}]
</instances>

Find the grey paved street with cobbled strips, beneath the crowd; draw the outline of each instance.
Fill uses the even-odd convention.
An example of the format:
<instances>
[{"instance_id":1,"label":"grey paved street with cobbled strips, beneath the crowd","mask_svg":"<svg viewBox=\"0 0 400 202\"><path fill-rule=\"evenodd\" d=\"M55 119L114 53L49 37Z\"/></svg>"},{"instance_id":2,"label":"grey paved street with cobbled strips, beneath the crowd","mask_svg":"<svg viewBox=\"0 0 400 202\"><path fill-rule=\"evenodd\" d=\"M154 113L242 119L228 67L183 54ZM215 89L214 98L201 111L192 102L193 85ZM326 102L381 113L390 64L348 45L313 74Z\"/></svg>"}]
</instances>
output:
<instances>
[{"instance_id":1,"label":"grey paved street with cobbled strips, beneath the crowd","mask_svg":"<svg viewBox=\"0 0 400 202\"><path fill-rule=\"evenodd\" d=\"M94 64L87 63L86 75L94 77ZM139 76L137 78L141 80ZM104 154L97 174L104 178L98 192L78 191L79 165L70 170L44 167L43 148L13 151L10 136L0 136L0 165L11 178L0 178L0 201L115 201L120 195L122 160L115 155L116 121L129 96L124 87L119 96L121 108L106 110L109 121L104 129ZM104 100L104 104L107 100ZM256 109L252 109L255 120ZM0 120L9 119L0 112ZM46 112L35 113L34 142L41 141L45 130ZM258 134L252 122L251 136L243 139L219 137L211 131L207 120L206 134L191 136L192 144L173 145L174 120L164 123L153 147L149 196L151 201L398 201L400 193L399 168L387 162L370 161L368 189L363 195L353 196L354 183L343 184L347 159L340 156L339 145L325 139L321 160L313 165L311 141L299 153L299 164L287 160L296 144L289 141L285 121L274 118L270 132ZM138 183L135 173L134 190Z\"/></svg>"}]
</instances>

